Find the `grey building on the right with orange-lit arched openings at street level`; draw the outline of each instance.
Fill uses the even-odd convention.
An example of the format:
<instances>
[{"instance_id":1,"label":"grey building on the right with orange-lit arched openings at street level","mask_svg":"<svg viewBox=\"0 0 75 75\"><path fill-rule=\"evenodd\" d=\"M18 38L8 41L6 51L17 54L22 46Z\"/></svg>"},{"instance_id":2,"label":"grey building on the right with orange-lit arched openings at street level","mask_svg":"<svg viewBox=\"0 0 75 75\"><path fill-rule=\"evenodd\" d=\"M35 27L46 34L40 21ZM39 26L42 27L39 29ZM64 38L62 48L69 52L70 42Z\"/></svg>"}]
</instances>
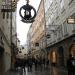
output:
<instances>
[{"instance_id":1,"label":"grey building on the right with orange-lit arched openings at street level","mask_svg":"<svg viewBox=\"0 0 75 75\"><path fill-rule=\"evenodd\" d=\"M44 0L46 29L50 38L47 39L48 58L51 63L66 66L69 54L75 56L75 50L70 51L75 43L75 0Z\"/></svg>"}]
</instances>

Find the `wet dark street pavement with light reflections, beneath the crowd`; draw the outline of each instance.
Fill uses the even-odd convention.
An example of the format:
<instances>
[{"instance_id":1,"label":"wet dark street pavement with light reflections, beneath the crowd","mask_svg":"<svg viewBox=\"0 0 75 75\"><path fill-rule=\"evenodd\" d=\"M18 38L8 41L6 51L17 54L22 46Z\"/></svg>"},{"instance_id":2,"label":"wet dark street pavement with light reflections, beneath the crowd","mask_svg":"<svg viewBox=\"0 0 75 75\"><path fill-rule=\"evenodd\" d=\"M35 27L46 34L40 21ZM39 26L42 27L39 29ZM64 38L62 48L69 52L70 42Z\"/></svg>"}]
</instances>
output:
<instances>
[{"instance_id":1,"label":"wet dark street pavement with light reflections, beneath the crowd","mask_svg":"<svg viewBox=\"0 0 75 75\"><path fill-rule=\"evenodd\" d=\"M50 68L40 68L35 71L33 68L32 71L28 71L27 68L24 70L19 69L18 71L9 71L5 75L67 75L67 70L63 68L50 67Z\"/></svg>"}]
</instances>

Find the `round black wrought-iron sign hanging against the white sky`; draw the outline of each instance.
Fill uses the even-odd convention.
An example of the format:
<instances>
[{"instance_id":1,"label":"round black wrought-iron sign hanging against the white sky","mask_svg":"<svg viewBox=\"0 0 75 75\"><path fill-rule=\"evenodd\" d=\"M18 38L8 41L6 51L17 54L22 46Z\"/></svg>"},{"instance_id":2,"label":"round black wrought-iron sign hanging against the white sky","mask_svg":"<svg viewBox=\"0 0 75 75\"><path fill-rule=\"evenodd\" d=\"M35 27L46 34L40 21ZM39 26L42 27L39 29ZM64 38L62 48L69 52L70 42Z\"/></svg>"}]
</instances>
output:
<instances>
[{"instance_id":1,"label":"round black wrought-iron sign hanging against the white sky","mask_svg":"<svg viewBox=\"0 0 75 75\"><path fill-rule=\"evenodd\" d=\"M27 0L26 5L23 5L20 10L19 14L22 18L22 22L24 23L32 23L36 17L36 10L34 7L29 5L29 0Z\"/></svg>"}]
</instances>

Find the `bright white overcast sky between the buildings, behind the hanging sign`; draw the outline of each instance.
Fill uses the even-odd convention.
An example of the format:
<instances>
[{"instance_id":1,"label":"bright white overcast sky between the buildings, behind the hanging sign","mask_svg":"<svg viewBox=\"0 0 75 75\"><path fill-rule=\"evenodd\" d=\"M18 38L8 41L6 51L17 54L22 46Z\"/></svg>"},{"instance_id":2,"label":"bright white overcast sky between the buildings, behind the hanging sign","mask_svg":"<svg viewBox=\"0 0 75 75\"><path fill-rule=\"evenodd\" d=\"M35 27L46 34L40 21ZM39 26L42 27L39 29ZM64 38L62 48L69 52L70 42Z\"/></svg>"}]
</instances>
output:
<instances>
[{"instance_id":1,"label":"bright white overcast sky between the buildings, behind the hanging sign","mask_svg":"<svg viewBox=\"0 0 75 75\"><path fill-rule=\"evenodd\" d=\"M38 10L38 6L41 0L29 0L29 4L32 5L36 10ZM21 17L19 16L19 9L21 6L26 4L26 0L19 0L17 4L17 34L20 40L20 44L23 45L26 43L27 32L31 24L26 24L21 21Z\"/></svg>"}]
</instances>

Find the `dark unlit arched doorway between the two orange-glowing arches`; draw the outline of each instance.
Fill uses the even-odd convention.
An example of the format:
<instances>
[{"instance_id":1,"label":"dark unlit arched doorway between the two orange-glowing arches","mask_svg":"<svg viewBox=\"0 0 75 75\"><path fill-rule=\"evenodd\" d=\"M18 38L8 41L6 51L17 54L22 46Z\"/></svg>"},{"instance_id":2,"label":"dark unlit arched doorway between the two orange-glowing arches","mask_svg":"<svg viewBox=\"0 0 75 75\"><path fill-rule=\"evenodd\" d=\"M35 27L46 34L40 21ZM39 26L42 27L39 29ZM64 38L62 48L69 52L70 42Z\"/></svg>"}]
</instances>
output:
<instances>
[{"instance_id":1,"label":"dark unlit arched doorway between the two orange-glowing arches","mask_svg":"<svg viewBox=\"0 0 75 75\"><path fill-rule=\"evenodd\" d=\"M63 46L58 47L58 64L64 66L64 48Z\"/></svg>"}]
</instances>

